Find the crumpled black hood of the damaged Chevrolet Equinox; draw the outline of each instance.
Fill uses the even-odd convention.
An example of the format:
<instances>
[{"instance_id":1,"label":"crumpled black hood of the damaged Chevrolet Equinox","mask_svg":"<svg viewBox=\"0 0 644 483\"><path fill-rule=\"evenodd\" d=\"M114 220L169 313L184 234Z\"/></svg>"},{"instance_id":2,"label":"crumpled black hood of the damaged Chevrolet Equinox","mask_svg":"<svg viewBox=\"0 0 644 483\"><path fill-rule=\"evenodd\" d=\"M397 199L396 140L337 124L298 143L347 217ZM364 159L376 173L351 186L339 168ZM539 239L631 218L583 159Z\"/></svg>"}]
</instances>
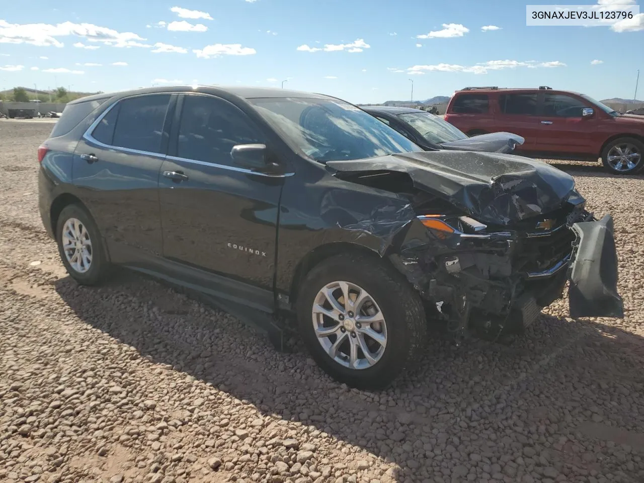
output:
<instances>
[{"instance_id":1,"label":"crumpled black hood of the damaged Chevrolet Equinox","mask_svg":"<svg viewBox=\"0 0 644 483\"><path fill-rule=\"evenodd\" d=\"M439 196L480 222L508 225L560 207L572 176L522 156L471 151L424 151L364 160L329 161L337 171L408 173L417 189Z\"/></svg>"}]
</instances>

